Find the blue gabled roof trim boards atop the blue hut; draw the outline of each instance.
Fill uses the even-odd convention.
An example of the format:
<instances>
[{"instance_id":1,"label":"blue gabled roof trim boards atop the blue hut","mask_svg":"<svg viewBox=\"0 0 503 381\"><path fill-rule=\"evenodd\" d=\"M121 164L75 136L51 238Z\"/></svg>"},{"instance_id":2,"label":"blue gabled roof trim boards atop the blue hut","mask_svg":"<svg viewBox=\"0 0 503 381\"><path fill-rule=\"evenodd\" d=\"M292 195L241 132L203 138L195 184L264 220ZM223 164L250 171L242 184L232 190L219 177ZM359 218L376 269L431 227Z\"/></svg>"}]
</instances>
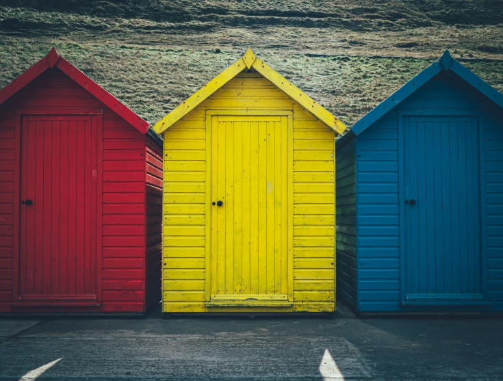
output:
<instances>
[{"instance_id":1,"label":"blue gabled roof trim boards atop the blue hut","mask_svg":"<svg viewBox=\"0 0 503 381\"><path fill-rule=\"evenodd\" d=\"M421 73L405 83L404 86L396 90L396 92L388 96L383 102L369 111L368 114L354 123L350 130L350 132L352 132L351 135L358 135L365 131L367 127L384 116L384 114L398 105L398 103L404 101L407 96L411 95L415 90L423 86L424 83L435 77L441 70L452 70L452 72L456 73L461 79L467 81L467 83L503 108L503 94L475 75L472 70L465 68L465 66L454 60L449 51L446 50L437 61L433 62L433 64L425 68Z\"/></svg>"}]
</instances>

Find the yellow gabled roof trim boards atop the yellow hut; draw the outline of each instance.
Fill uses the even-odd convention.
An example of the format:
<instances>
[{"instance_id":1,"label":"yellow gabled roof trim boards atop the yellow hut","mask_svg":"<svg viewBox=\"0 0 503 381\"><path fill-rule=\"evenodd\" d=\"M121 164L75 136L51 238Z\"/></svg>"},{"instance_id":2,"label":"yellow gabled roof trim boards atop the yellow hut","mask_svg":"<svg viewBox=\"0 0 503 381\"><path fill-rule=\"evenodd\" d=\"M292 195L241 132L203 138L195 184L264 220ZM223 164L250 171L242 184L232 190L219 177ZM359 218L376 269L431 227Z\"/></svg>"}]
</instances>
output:
<instances>
[{"instance_id":1,"label":"yellow gabled roof trim boards atop the yellow hut","mask_svg":"<svg viewBox=\"0 0 503 381\"><path fill-rule=\"evenodd\" d=\"M198 105L201 105L201 103L209 98L209 96L217 92L220 88L222 88L222 86L241 73L245 68L254 68L264 78L272 82L276 88L285 92L287 96L307 109L307 111L311 112L311 114L318 118L320 122L326 124L327 127L336 133L342 134L344 130L346 130L346 126L343 122L324 109L324 107L320 104L313 101L310 96L300 91L293 83L290 83L287 79L285 79L285 77L257 58L251 49L248 49L243 57L234 62L231 66L229 66L229 68L225 69L214 79L211 79L211 81L209 81L206 86L201 88L201 90L192 94L192 96L190 96L185 102L162 118L162 120L155 123L153 130L156 133L164 133L164 131L190 113L190 111L198 107Z\"/></svg>"}]
</instances>

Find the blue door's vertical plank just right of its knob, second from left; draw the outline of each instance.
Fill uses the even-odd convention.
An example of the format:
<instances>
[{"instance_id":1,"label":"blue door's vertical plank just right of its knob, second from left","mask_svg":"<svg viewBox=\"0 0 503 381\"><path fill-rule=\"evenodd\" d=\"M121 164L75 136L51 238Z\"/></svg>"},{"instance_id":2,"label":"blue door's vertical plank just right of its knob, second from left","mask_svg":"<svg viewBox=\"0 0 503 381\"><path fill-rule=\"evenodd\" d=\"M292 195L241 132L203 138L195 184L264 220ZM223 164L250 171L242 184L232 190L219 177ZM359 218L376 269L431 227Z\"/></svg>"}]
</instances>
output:
<instances>
[{"instance_id":1,"label":"blue door's vertical plank just right of its knob, second from left","mask_svg":"<svg viewBox=\"0 0 503 381\"><path fill-rule=\"evenodd\" d=\"M427 292L428 289L428 246L426 244L426 225L428 224L426 216L426 139L425 139L425 123L417 122L417 193L416 204L413 208L417 209L417 227L418 239L417 248L419 248L419 255L417 261L419 267L419 288L420 293Z\"/></svg>"}]
</instances>

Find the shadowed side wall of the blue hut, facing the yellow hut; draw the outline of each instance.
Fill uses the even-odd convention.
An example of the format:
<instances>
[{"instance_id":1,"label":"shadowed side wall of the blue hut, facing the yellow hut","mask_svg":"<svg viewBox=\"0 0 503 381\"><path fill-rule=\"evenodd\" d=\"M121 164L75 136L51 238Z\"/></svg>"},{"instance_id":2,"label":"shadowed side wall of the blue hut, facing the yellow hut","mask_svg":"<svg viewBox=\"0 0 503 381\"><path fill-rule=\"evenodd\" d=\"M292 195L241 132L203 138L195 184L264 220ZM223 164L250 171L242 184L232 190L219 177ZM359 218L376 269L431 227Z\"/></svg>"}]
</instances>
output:
<instances>
[{"instance_id":1,"label":"shadowed side wall of the blue hut, facing the yellow hut","mask_svg":"<svg viewBox=\"0 0 503 381\"><path fill-rule=\"evenodd\" d=\"M337 146L335 222L337 298L357 308L357 160L356 140Z\"/></svg>"}]
</instances>

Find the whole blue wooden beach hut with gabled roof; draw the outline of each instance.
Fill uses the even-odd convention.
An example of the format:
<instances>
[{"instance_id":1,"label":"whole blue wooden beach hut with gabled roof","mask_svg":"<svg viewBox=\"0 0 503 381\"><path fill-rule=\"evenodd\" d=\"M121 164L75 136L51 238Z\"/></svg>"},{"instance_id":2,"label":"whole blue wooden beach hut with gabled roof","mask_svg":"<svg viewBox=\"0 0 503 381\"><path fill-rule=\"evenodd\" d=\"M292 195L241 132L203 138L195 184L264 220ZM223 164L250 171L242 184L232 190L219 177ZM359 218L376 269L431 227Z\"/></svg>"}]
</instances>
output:
<instances>
[{"instance_id":1,"label":"whole blue wooden beach hut with gabled roof","mask_svg":"<svg viewBox=\"0 0 503 381\"><path fill-rule=\"evenodd\" d=\"M339 299L503 310L503 94L446 51L336 146Z\"/></svg>"}]
</instances>

